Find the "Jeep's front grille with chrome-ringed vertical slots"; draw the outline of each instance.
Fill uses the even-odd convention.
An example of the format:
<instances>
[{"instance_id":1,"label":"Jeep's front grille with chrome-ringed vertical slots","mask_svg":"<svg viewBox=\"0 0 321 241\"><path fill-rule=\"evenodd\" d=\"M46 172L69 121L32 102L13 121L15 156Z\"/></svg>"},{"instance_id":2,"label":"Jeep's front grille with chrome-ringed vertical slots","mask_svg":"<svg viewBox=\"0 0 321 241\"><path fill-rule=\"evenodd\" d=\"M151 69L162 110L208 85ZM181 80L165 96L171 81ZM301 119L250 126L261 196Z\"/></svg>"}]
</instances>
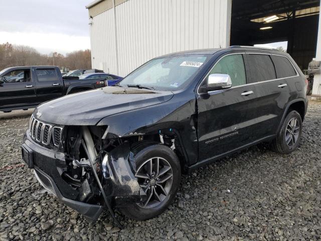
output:
<instances>
[{"instance_id":1,"label":"Jeep's front grille with chrome-ringed vertical slots","mask_svg":"<svg viewBox=\"0 0 321 241\"><path fill-rule=\"evenodd\" d=\"M40 122L32 115L29 122L29 134L32 139L41 144L47 146L52 140L54 146L59 147L61 143L62 127L54 127Z\"/></svg>"}]
</instances>

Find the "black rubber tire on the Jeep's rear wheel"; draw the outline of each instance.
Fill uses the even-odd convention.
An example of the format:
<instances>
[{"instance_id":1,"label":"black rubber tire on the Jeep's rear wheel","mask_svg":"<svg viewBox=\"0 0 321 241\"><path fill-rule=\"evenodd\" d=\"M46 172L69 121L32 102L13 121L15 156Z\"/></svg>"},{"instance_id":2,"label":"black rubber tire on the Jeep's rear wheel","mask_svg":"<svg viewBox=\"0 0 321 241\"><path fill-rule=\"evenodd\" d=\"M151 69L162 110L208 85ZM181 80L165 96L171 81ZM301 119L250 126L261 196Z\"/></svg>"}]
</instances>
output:
<instances>
[{"instance_id":1,"label":"black rubber tire on the Jeep's rear wheel","mask_svg":"<svg viewBox=\"0 0 321 241\"><path fill-rule=\"evenodd\" d=\"M293 119L296 119L297 124L298 124L298 129L297 129L297 138L295 138L296 135L291 134L290 132L287 131L289 128L288 125L290 125L290 121L293 122ZM297 126L295 127L297 128ZM296 133L296 132L293 132ZM301 139L301 134L302 134L302 119L301 115L296 111L296 110L291 110L287 113L286 117L284 118L282 127L277 134L277 137L272 141L271 143L271 149L274 152L278 152L281 154L289 154L293 152L299 145L300 139ZM289 140L287 137L291 136L291 140L289 143L287 141ZM296 141L294 141L296 140ZM291 145L292 144L292 145Z\"/></svg>"}]
</instances>

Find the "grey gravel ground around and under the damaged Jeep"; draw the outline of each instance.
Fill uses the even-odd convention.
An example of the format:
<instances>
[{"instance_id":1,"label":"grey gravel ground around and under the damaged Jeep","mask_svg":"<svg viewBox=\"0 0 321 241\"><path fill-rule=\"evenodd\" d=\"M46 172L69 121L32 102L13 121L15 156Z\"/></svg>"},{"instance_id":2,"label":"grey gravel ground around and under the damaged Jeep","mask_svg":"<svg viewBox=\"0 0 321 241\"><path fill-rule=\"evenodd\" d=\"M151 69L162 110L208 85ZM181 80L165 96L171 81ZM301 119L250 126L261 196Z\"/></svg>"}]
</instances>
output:
<instances>
[{"instance_id":1,"label":"grey gravel ground around and under the damaged Jeep","mask_svg":"<svg viewBox=\"0 0 321 241\"><path fill-rule=\"evenodd\" d=\"M29 116L0 120L0 240L320 240L321 103L310 102L298 150L264 144L183 176L161 216L133 221L108 213L95 224L48 194L22 164ZM13 166L8 169L8 166Z\"/></svg>"}]
</instances>

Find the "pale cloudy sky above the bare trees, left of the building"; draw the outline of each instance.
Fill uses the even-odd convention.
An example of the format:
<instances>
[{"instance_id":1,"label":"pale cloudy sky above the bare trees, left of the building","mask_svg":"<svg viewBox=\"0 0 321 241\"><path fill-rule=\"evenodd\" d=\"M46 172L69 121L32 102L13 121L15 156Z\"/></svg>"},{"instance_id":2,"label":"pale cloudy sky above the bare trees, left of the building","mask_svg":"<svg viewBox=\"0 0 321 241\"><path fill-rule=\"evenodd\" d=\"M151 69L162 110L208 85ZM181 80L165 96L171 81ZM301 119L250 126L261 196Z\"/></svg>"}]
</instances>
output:
<instances>
[{"instance_id":1,"label":"pale cloudy sky above the bare trees, left of the building","mask_svg":"<svg viewBox=\"0 0 321 241\"><path fill-rule=\"evenodd\" d=\"M85 6L92 0L0 2L0 44L28 45L42 54L90 49Z\"/></svg>"}]
</instances>

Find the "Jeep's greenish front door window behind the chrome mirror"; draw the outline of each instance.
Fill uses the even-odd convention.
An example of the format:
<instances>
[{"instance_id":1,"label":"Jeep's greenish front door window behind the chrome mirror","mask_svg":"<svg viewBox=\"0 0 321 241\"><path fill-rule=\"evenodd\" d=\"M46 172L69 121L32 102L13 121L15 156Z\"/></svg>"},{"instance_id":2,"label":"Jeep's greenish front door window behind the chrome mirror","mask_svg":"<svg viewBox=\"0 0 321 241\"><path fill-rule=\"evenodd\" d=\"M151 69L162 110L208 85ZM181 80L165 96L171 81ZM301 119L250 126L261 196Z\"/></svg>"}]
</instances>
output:
<instances>
[{"instance_id":1,"label":"Jeep's greenish front door window behind the chrome mirror","mask_svg":"<svg viewBox=\"0 0 321 241\"><path fill-rule=\"evenodd\" d=\"M245 66L242 54L232 54L223 57L215 64L210 74L228 74L232 86L246 84Z\"/></svg>"}]
</instances>

